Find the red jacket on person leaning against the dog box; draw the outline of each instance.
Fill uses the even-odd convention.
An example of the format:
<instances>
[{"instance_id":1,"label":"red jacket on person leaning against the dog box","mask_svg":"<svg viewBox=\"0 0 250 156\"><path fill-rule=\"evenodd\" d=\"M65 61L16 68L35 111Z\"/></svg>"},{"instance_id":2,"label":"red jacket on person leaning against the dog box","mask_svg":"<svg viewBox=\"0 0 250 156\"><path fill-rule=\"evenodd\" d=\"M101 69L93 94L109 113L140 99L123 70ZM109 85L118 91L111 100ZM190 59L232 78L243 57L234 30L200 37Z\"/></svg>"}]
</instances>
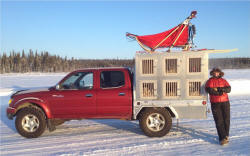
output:
<instances>
[{"instance_id":1,"label":"red jacket on person leaning against the dog box","mask_svg":"<svg viewBox=\"0 0 250 156\"><path fill-rule=\"evenodd\" d=\"M231 86L221 77L211 77L206 83L206 91L209 93L211 103L227 102L229 101L227 93L230 93Z\"/></svg>"}]
</instances>

